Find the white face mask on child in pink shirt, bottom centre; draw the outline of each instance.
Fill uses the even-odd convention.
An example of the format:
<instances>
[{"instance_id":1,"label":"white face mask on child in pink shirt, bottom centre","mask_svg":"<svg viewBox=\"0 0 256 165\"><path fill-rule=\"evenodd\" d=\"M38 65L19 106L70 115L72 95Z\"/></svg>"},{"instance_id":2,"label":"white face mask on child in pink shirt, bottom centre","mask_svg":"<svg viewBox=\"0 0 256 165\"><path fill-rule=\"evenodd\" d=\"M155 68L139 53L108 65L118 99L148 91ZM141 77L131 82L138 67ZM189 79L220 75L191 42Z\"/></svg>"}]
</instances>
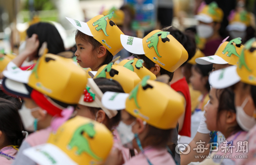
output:
<instances>
[{"instance_id":1,"label":"white face mask on child in pink shirt, bottom centre","mask_svg":"<svg viewBox=\"0 0 256 165\"><path fill-rule=\"evenodd\" d=\"M136 121L132 122L130 125L126 125L124 122L120 121L119 125L116 127L118 134L120 136L121 143L124 147L133 149L132 140L134 139L134 133L132 132L132 126Z\"/></svg>"}]
</instances>

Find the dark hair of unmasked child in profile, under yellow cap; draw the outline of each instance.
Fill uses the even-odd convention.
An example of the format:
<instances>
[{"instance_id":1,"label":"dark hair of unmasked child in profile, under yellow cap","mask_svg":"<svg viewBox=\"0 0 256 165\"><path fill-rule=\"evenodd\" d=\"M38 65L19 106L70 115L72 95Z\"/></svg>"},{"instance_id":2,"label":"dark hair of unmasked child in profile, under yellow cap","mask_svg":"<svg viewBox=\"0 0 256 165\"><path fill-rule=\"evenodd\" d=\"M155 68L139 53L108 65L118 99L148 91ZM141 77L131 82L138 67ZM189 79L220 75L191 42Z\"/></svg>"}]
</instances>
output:
<instances>
[{"instance_id":1,"label":"dark hair of unmasked child in profile, under yellow cap","mask_svg":"<svg viewBox=\"0 0 256 165\"><path fill-rule=\"evenodd\" d=\"M80 32L79 30L76 30L76 38L80 38L81 40L85 42L89 42L92 45L92 51L95 52L97 48L102 46L100 42L95 40L92 36L88 36L87 34L84 34L83 32ZM97 68L109 64L113 60L113 55L106 49L106 60L100 64Z\"/></svg>"}]
</instances>

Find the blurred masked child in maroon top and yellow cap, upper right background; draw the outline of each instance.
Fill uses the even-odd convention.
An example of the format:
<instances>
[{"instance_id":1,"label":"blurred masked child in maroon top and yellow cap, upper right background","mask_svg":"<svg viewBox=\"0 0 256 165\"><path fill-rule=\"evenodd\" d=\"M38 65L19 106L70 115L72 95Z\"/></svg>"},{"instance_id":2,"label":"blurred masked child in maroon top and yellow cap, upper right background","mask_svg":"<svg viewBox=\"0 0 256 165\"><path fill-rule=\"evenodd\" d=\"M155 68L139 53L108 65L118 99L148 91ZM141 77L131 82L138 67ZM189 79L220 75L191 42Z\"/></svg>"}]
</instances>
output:
<instances>
[{"instance_id":1,"label":"blurred masked child in maroon top and yellow cap, upper right background","mask_svg":"<svg viewBox=\"0 0 256 165\"><path fill-rule=\"evenodd\" d=\"M223 40L219 33L223 15L216 2L211 2L209 5L202 2L198 9L198 15L195 16L199 21L196 32L198 37L206 42L202 49L205 56L213 56Z\"/></svg>"}]
</instances>

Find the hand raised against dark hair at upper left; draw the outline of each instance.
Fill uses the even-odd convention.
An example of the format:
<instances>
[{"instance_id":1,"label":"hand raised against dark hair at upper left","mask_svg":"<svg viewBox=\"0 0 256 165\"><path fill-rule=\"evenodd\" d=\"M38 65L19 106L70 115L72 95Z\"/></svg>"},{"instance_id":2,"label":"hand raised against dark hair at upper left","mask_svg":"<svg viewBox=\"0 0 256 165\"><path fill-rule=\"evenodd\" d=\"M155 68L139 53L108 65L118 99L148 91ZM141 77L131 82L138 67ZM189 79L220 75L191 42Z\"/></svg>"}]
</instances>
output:
<instances>
[{"instance_id":1,"label":"hand raised against dark hair at upper left","mask_svg":"<svg viewBox=\"0 0 256 165\"><path fill-rule=\"evenodd\" d=\"M26 40L26 47L24 52L28 55L35 55L39 47L38 35L33 34L30 38Z\"/></svg>"}]
</instances>

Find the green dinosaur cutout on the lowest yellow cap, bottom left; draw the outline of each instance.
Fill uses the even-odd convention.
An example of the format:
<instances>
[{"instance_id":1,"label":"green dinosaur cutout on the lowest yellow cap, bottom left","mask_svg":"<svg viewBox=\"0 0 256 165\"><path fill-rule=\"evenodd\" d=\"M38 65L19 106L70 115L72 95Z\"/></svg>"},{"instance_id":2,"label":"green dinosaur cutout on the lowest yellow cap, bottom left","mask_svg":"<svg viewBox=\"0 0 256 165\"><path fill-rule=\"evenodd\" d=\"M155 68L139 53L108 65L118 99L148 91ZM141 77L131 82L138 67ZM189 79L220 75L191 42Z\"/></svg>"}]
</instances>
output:
<instances>
[{"instance_id":1,"label":"green dinosaur cutout on the lowest yellow cap, bottom left","mask_svg":"<svg viewBox=\"0 0 256 165\"><path fill-rule=\"evenodd\" d=\"M81 155L83 152L85 152L88 153L94 159L101 161L102 159L98 157L90 148L88 140L83 135L84 133L87 133L91 139L94 138L96 134L94 130L94 124L88 123L76 129L72 139L68 143L68 148L72 149L73 147L77 147L76 154Z\"/></svg>"}]
</instances>

